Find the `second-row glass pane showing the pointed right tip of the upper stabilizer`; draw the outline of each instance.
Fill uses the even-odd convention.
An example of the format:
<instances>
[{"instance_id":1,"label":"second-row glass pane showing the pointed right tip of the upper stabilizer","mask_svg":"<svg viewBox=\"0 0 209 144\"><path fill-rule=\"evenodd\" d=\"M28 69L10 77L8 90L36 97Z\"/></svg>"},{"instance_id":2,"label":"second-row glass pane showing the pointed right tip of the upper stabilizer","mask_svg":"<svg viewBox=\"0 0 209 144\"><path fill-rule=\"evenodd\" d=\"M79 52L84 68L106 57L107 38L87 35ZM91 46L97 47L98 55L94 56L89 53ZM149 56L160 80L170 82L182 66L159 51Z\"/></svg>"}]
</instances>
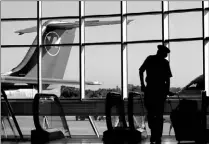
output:
<instances>
[{"instance_id":1,"label":"second-row glass pane showing the pointed right tip of the upper stabilizer","mask_svg":"<svg viewBox=\"0 0 209 144\"><path fill-rule=\"evenodd\" d=\"M162 39L162 16L133 16L127 26L128 41Z\"/></svg>"}]
</instances>

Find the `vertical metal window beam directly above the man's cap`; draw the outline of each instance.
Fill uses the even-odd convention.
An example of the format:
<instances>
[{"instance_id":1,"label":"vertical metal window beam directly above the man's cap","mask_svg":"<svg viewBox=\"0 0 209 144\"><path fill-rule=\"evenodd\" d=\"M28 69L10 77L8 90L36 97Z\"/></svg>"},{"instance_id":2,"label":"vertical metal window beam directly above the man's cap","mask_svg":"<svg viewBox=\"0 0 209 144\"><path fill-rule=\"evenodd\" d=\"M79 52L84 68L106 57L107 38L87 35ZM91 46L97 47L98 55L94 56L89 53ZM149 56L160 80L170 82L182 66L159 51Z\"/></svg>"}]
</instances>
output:
<instances>
[{"instance_id":1,"label":"vertical metal window beam directly above the man's cap","mask_svg":"<svg viewBox=\"0 0 209 144\"><path fill-rule=\"evenodd\" d=\"M162 44L170 48L169 42L165 42L165 40L169 40L169 14L165 13L168 10L169 1L162 1ZM168 59L170 61L170 55Z\"/></svg>"}]
</instances>

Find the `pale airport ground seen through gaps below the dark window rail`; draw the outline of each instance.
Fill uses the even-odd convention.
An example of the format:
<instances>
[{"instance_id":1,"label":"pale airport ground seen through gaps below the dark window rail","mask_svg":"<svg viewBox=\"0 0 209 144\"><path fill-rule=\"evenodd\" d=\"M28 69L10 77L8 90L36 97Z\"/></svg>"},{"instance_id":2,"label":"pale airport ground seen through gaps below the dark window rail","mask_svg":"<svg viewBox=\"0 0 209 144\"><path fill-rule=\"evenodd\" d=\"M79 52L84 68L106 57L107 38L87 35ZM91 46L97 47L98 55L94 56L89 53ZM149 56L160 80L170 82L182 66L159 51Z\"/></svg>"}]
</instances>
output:
<instances>
[{"instance_id":1,"label":"pale airport ground seen through gaps below the dark window rail","mask_svg":"<svg viewBox=\"0 0 209 144\"><path fill-rule=\"evenodd\" d=\"M102 139L97 138L96 135L94 134L94 131L91 127L90 122L86 119L84 121L76 121L75 116L67 116L67 123L72 135L72 138L66 138L66 139L61 139L57 141L52 141L50 144L102 144ZM61 121L56 118L56 121L52 121L53 117L49 117L48 120L51 122L50 125L52 127L62 127ZM33 118L31 116L24 116L24 117L17 117L18 123L21 127L21 130L23 132L23 135L27 138L30 137L30 131L34 129L34 124L33 124ZM107 130L106 128L106 122L105 120L101 121L95 121L95 125L99 131L100 136L102 137L103 132ZM5 121L5 127L6 127L6 132L7 135L13 135L13 132L11 131L8 123ZM165 122L164 123L164 129L163 129L163 142L162 144L177 144L178 142L175 140L175 134L173 129L171 130L171 134L169 136L169 127L170 123ZM146 129L147 129L147 134L148 138L143 140L141 144L148 144L150 143L149 141L149 136L150 136L150 130L148 128L148 125L146 123ZM198 132L197 132L198 133ZM13 141L8 141L4 139L4 134L2 132L2 144L30 144L30 141L24 141L24 142L14 142Z\"/></svg>"}]
</instances>

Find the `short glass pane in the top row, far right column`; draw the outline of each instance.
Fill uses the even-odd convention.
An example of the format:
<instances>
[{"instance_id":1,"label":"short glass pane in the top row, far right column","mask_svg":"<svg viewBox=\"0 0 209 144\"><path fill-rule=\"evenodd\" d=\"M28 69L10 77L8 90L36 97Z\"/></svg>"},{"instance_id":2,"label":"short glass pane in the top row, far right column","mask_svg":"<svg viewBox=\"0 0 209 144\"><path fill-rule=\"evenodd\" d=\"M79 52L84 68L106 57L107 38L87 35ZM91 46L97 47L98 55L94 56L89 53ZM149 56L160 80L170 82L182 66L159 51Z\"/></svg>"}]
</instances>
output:
<instances>
[{"instance_id":1,"label":"short glass pane in the top row, far right column","mask_svg":"<svg viewBox=\"0 0 209 144\"><path fill-rule=\"evenodd\" d=\"M201 8L202 1L169 1L169 9L190 9Z\"/></svg>"}]
</instances>

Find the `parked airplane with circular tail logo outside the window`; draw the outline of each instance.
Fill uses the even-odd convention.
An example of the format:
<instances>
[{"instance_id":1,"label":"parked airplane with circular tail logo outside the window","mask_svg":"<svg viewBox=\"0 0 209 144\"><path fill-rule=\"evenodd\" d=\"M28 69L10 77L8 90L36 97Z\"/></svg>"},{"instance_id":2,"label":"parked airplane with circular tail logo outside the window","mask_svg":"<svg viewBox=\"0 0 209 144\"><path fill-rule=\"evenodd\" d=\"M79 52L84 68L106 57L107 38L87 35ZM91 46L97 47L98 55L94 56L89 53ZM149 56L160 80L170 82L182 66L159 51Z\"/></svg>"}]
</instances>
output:
<instances>
[{"instance_id":1,"label":"parked airplane with circular tail logo outside the window","mask_svg":"<svg viewBox=\"0 0 209 144\"><path fill-rule=\"evenodd\" d=\"M128 21L128 23L131 20ZM118 20L115 21L85 21L85 27L103 26L120 24ZM42 25L42 41L43 44L66 44L73 43L75 38L76 28L79 28L79 22L67 22L59 20L48 20ZM23 35L26 33L37 32L37 27L30 27L18 30L15 33ZM37 37L32 45L37 44ZM63 80L68 58L70 56L72 46L45 46L42 49L42 87L43 90L50 88L53 84L73 84L78 85L76 80ZM18 92L26 89L32 89L33 97L37 93L37 61L38 48L30 47L25 57L19 65L14 67L9 72L1 74L1 87L7 94L18 94ZM97 81L86 81L86 85L100 85ZM27 96L27 95L26 95ZM17 97L16 97L17 98Z\"/></svg>"}]
</instances>

